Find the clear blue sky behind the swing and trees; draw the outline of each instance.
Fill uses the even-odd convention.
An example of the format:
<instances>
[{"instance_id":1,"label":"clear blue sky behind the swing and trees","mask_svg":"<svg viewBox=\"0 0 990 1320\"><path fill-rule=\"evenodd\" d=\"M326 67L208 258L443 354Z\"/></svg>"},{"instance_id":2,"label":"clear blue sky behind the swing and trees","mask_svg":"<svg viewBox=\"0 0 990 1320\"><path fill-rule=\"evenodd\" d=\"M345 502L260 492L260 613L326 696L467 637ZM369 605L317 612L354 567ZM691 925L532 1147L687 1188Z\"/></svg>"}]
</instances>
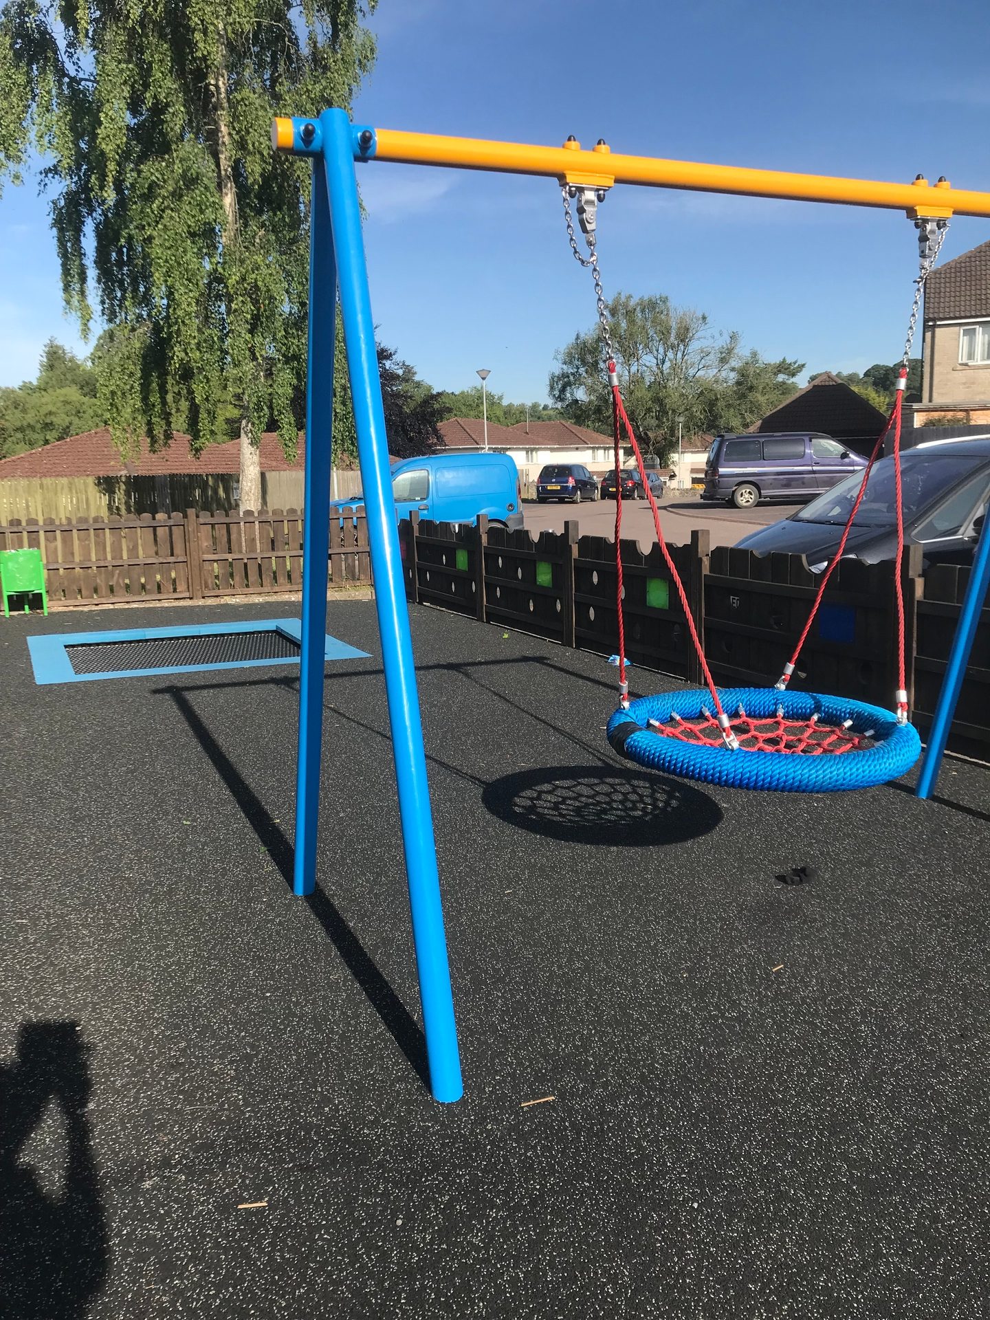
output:
<instances>
[{"instance_id":1,"label":"clear blue sky behind the swing and trees","mask_svg":"<svg viewBox=\"0 0 990 1320\"><path fill-rule=\"evenodd\" d=\"M381 0L372 25L355 119L383 128L990 189L983 0ZM360 178L380 338L436 388L487 367L507 399L545 399L554 352L594 323L556 182ZM944 255L987 239L990 220L957 219ZM599 252L606 296L667 293L764 356L849 371L900 355L916 243L899 213L616 187ZM33 376L49 335L82 348L46 203L8 187L0 384Z\"/></svg>"}]
</instances>

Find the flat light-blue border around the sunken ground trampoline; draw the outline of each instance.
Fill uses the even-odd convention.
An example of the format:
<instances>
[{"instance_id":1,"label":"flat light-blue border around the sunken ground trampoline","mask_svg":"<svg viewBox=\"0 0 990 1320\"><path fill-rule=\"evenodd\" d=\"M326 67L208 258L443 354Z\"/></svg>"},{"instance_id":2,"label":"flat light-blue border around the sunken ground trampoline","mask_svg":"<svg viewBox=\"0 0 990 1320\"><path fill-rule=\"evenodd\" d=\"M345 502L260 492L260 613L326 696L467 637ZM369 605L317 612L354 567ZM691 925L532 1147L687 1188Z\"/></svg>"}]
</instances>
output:
<instances>
[{"instance_id":1,"label":"flat light-blue border around the sunken ground trampoline","mask_svg":"<svg viewBox=\"0 0 990 1320\"><path fill-rule=\"evenodd\" d=\"M218 664L166 665L158 669L107 669L102 673L77 673L66 652L67 647L94 645L108 642L149 642L156 638L222 638L234 632L280 632L301 644L298 619L248 619L240 623L193 623L166 628L112 628L103 632L45 632L28 638L28 651L34 669L34 682L40 686L53 682L91 682L100 678L137 678L168 673L201 673L207 669L255 669L261 665L298 664L300 656L267 660L227 660ZM323 661L363 660L367 651L331 638L323 638Z\"/></svg>"}]
</instances>

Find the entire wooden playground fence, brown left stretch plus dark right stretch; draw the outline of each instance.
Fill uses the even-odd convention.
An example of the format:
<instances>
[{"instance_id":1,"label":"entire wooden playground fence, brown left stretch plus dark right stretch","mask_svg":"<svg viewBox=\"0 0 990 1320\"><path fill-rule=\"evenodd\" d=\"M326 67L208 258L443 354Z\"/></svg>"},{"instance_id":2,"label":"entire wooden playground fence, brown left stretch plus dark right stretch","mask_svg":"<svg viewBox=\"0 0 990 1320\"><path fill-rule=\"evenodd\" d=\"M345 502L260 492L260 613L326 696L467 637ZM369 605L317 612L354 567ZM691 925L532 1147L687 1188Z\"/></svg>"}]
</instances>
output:
<instances>
[{"instance_id":1,"label":"entire wooden playground fence, brown left stretch plus dark right stretch","mask_svg":"<svg viewBox=\"0 0 990 1320\"><path fill-rule=\"evenodd\" d=\"M55 609L117 602L205 601L300 591L302 513L160 513L0 524L0 550L36 545ZM409 601L441 606L566 647L618 649L615 549L599 536L442 523L400 524ZM710 549L708 532L672 548L690 611L723 685L774 681L799 635L816 577L795 554L758 558ZM701 682L680 599L657 546L622 546L626 652L634 665ZM327 545L330 583L371 582L367 524L334 508ZM894 566L843 560L801 657L804 680L822 692L888 706L896 682ZM928 727L939 697L969 569L939 565L921 574L919 546L904 562L907 686L917 726ZM649 688L651 680L632 682ZM956 751L990 760L990 610L983 611L962 686Z\"/></svg>"}]
</instances>

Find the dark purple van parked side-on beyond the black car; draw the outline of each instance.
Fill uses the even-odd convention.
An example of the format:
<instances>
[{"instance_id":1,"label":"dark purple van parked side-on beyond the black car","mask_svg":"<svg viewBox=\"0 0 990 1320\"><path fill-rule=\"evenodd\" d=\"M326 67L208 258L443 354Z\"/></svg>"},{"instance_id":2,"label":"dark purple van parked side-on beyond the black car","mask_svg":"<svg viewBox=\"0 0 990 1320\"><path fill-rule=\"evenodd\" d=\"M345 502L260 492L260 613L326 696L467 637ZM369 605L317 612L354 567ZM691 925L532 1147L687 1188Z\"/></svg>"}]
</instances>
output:
<instances>
[{"instance_id":1,"label":"dark purple van parked side-on beyond the black car","mask_svg":"<svg viewBox=\"0 0 990 1320\"><path fill-rule=\"evenodd\" d=\"M863 467L865 458L821 432L715 436L701 498L737 508L763 499L808 500Z\"/></svg>"}]
</instances>

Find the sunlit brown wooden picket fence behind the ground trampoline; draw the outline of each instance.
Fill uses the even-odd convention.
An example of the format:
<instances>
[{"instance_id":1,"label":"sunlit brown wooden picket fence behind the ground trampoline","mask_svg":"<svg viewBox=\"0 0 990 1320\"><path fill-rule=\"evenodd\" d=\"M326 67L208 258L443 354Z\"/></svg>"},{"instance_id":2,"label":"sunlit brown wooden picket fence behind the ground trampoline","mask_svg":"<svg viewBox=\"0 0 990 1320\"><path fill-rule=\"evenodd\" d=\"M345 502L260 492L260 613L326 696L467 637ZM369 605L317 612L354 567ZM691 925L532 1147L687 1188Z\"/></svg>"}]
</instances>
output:
<instances>
[{"instance_id":1,"label":"sunlit brown wooden picket fence behind the ground trampoline","mask_svg":"<svg viewBox=\"0 0 990 1320\"><path fill-rule=\"evenodd\" d=\"M0 524L0 550L37 546L50 607L205 601L302 590L301 510L141 513ZM367 520L333 508L333 586L371 582Z\"/></svg>"}]
</instances>

